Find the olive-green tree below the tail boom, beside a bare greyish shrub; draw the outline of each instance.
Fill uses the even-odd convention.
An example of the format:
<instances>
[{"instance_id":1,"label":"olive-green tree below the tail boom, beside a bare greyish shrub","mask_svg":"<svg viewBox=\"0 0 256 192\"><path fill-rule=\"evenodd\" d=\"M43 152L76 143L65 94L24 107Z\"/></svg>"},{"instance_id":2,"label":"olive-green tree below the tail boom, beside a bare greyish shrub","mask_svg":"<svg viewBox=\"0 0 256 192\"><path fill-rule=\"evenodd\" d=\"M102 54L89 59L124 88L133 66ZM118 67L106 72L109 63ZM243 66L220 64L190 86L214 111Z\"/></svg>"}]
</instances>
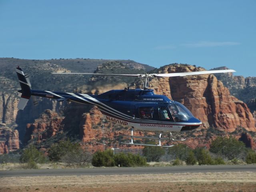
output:
<instances>
[{"instance_id":1,"label":"olive-green tree below the tail boom, beside a bare greyish shrub","mask_svg":"<svg viewBox=\"0 0 256 192\"><path fill-rule=\"evenodd\" d=\"M70 140L62 140L53 144L48 150L48 157L51 161L60 161L62 156L68 153L78 153L81 149L78 143L72 143Z\"/></svg>"}]
</instances>

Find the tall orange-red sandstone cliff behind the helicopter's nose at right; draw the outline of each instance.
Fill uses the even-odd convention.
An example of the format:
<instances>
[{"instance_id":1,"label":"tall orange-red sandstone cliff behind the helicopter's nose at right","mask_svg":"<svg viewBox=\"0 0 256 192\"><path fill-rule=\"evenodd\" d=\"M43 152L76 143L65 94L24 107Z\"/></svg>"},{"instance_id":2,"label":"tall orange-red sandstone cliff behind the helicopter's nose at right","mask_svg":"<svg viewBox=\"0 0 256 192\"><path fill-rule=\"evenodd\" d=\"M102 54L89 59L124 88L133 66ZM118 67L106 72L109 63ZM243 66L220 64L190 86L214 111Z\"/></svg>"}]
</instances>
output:
<instances>
[{"instance_id":1,"label":"tall orange-red sandstone cliff behind the helicopter's nose at right","mask_svg":"<svg viewBox=\"0 0 256 192\"><path fill-rule=\"evenodd\" d=\"M177 64L165 66L157 73L198 70L205 69ZM254 118L246 104L231 96L229 90L214 75L158 78L158 81L151 81L155 93L164 93L170 97L168 90L171 90L173 100L184 104L203 122L205 128L214 126L233 132L237 126L242 126L248 131L256 131Z\"/></svg>"}]
</instances>

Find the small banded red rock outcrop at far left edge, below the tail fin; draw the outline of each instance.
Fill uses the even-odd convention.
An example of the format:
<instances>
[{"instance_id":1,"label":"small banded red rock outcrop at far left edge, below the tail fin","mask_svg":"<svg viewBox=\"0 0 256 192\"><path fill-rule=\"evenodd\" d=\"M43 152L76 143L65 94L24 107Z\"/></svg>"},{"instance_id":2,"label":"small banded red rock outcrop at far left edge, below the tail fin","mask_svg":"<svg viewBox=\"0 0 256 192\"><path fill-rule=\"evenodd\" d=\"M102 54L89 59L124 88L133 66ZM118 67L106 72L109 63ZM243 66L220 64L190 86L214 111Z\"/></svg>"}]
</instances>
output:
<instances>
[{"instance_id":1,"label":"small banded red rock outcrop at far left edge, below the tail fin","mask_svg":"<svg viewBox=\"0 0 256 192\"><path fill-rule=\"evenodd\" d=\"M0 154L5 154L20 148L19 132L0 124Z\"/></svg>"}]
</instances>

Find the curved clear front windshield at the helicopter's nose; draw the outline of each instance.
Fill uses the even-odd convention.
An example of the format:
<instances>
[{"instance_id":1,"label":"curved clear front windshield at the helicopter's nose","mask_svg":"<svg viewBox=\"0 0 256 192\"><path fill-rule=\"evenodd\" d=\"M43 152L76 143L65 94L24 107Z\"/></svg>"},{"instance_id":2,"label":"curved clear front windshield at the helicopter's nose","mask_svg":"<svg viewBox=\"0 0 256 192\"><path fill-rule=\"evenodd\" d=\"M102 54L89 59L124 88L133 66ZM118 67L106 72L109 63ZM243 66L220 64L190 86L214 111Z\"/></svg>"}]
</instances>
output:
<instances>
[{"instance_id":1,"label":"curved clear front windshield at the helicopter's nose","mask_svg":"<svg viewBox=\"0 0 256 192\"><path fill-rule=\"evenodd\" d=\"M187 121L193 117L192 113L181 103L173 102L169 105L170 113L174 121Z\"/></svg>"}]
</instances>

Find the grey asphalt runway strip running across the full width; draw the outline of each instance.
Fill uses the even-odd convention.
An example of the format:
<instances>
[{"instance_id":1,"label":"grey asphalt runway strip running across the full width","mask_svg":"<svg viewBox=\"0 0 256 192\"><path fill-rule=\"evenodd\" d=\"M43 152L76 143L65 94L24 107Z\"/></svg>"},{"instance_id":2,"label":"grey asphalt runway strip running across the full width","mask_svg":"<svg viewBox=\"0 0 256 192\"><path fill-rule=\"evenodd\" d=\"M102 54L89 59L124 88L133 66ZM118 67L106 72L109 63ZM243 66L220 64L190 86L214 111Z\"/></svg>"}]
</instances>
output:
<instances>
[{"instance_id":1,"label":"grey asphalt runway strip running across the full width","mask_svg":"<svg viewBox=\"0 0 256 192\"><path fill-rule=\"evenodd\" d=\"M11 176L80 176L116 174L168 174L185 172L256 172L256 165L216 165L216 166L170 166L170 167L112 167L79 169L32 169L1 170L0 177Z\"/></svg>"}]
</instances>

